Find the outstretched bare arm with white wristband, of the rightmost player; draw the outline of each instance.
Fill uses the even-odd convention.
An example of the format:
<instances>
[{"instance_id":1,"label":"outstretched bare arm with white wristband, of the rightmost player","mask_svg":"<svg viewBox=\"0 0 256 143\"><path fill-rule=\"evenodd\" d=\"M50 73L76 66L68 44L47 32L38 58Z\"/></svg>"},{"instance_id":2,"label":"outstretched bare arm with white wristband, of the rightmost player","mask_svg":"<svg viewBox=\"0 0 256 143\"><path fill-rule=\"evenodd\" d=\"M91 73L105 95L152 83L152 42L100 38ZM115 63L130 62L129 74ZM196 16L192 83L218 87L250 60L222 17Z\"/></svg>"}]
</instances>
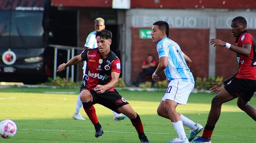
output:
<instances>
[{"instance_id":1,"label":"outstretched bare arm with white wristband, of the rightmost player","mask_svg":"<svg viewBox=\"0 0 256 143\"><path fill-rule=\"evenodd\" d=\"M214 46L221 46L221 47L225 47L227 45L227 42L223 42L219 39L210 39L210 44L214 44ZM245 57L248 57L250 52L251 52L251 48L252 48L252 45L249 44L249 43L244 43L243 44L243 48L241 47L237 47L235 45L231 45L230 46L230 50L235 52L235 53L238 53L240 55L243 55Z\"/></svg>"}]
</instances>

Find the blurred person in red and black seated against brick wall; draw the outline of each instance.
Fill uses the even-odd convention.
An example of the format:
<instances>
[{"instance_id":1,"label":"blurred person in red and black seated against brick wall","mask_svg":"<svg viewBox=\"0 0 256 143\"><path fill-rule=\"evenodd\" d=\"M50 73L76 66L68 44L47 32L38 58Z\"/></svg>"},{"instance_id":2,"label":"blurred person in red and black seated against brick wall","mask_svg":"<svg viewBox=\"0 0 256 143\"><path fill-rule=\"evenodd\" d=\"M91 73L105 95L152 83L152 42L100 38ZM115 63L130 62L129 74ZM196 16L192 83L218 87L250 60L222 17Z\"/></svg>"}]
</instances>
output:
<instances>
[{"instance_id":1,"label":"blurred person in red and black seated against brick wall","mask_svg":"<svg viewBox=\"0 0 256 143\"><path fill-rule=\"evenodd\" d=\"M143 69L143 71L141 73L139 73L137 80L135 82L132 82L135 86L139 86L139 83L141 82L141 79L146 77L146 76L152 76L153 73L156 70L156 61L154 60L153 55L149 54L147 56L147 61L144 61L142 63L141 68ZM152 86L154 84L154 81L152 80Z\"/></svg>"}]
</instances>

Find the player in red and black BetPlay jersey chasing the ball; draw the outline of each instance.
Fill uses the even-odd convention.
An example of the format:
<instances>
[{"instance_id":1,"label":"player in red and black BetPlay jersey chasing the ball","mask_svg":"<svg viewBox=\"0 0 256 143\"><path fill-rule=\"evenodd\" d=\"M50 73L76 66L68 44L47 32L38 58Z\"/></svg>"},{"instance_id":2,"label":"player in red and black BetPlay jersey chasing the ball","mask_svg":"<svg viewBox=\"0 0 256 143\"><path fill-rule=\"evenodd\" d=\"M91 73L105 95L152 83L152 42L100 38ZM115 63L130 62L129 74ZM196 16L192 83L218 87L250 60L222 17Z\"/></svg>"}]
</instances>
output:
<instances>
[{"instance_id":1,"label":"player in red and black BetPlay jersey chasing the ball","mask_svg":"<svg viewBox=\"0 0 256 143\"><path fill-rule=\"evenodd\" d=\"M83 84L80 89L80 98L83 102L84 111L94 124L96 138L102 136L103 130L93 105L100 104L129 117L138 132L140 141L149 143L150 141L144 133L141 118L114 89L118 84L121 65L119 58L110 50L111 39L112 33L110 31L101 30L97 32L98 48L84 50L80 55L70 59L69 62L59 65L57 72L82 61L87 62Z\"/></svg>"}]
</instances>

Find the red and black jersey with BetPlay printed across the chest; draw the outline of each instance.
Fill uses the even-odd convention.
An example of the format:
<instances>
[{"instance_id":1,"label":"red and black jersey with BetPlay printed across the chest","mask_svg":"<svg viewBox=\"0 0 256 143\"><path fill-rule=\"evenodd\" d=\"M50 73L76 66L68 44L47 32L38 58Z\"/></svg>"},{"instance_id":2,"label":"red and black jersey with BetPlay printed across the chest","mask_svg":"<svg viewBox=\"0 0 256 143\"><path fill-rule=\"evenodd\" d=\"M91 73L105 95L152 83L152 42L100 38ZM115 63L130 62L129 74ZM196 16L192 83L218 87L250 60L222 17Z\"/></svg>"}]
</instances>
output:
<instances>
[{"instance_id":1,"label":"red and black jersey with BetPlay printed across the chest","mask_svg":"<svg viewBox=\"0 0 256 143\"><path fill-rule=\"evenodd\" d=\"M86 49L82 52L81 58L82 61L87 62L82 85L87 89L93 90L98 84L109 83L112 72L121 73L120 60L112 51L109 52L108 57L103 58L98 48Z\"/></svg>"}]
</instances>

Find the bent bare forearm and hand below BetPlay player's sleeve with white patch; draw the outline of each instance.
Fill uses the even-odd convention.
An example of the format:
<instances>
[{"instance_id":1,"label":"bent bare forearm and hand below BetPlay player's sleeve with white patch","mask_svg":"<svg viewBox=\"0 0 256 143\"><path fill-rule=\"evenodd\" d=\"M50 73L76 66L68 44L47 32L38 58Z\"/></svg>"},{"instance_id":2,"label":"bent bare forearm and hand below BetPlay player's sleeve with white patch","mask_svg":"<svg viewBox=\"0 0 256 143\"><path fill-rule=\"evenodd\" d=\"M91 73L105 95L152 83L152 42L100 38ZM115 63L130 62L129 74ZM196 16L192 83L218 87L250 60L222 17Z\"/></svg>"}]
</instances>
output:
<instances>
[{"instance_id":1,"label":"bent bare forearm and hand below BetPlay player's sleeve with white patch","mask_svg":"<svg viewBox=\"0 0 256 143\"><path fill-rule=\"evenodd\" d=\"M111 72L111 81L108 84L105 85L97 85L96 88L98 88L98 90L96 90L96 92L98 94L104 93L106 90L108 89L112 89L115 86L117 86L118 84L118 79L119 79L119 73L117 72Z\"/></svg>"}]
</instances>

